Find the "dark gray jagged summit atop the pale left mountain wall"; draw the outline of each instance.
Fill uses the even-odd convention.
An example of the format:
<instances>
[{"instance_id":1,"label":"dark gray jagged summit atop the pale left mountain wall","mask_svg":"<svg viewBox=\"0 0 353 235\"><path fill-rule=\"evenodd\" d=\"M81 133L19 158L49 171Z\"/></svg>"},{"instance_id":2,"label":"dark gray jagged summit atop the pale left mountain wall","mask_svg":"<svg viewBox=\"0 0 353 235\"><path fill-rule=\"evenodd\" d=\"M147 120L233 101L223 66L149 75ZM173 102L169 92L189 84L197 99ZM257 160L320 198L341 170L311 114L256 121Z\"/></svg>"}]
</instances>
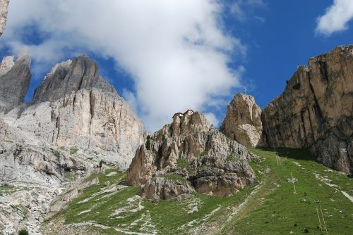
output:
<instances>
[{"instance_id":1,"label":"dark gray jagged summit atop the pale left mountain wall","mask_svg":"<svg viewBox=\"0 0 353 235\"><path fill-rule=\"evenodd\" d=\"M114 87L100 76L97 63L87 55L81 55L56 64L35 89L32 103L56 101L72 91L91 88L116 94Z\"/></svg>"}]
</instances>

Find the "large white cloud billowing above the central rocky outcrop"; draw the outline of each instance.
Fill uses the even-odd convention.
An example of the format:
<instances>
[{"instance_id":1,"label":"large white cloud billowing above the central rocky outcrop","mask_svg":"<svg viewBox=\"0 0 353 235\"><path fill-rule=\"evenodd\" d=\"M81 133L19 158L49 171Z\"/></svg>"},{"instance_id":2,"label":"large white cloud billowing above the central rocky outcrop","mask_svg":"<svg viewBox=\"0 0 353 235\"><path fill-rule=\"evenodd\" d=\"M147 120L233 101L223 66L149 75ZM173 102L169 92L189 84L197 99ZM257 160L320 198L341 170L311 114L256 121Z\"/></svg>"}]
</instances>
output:
<instances>
[{"instance_id":1,"label":"large white cloud billowing above the central rocky outcrop","mask_svg":"<svg viewBox=\"0 0 353 235\"><path fill-rule=\"evenodd\" d=\"M229 68L229 55L245 47L224 31L223 10L216 0L13 0L1 40L43 66L86 51L113 58L135 84L123 95L155 130L173 113L212 109L239 86L243 68Z\"/></svg>"}]
</instances>

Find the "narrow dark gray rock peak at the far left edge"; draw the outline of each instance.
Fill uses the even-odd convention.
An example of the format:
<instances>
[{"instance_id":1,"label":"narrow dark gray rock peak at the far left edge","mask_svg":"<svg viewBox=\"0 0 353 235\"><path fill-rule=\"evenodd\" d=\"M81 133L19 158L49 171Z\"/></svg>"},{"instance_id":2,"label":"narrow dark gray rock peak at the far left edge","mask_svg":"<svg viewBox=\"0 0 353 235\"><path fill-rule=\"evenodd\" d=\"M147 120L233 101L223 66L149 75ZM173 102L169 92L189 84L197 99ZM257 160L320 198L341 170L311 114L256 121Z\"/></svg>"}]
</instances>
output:
<instances>
[{"instance_id":1,"label":"narrow dark gray rock peak at the far left edge","mask_svg":"<svg viewBox=\"0 0 353 235\"><path fill-rule=\"evenodd\" d=\"M16 63L13 56L5 57L0 65L0 113L23 103L30 85L30 57L19 56Z\"/></svg>"}]
</instances>

